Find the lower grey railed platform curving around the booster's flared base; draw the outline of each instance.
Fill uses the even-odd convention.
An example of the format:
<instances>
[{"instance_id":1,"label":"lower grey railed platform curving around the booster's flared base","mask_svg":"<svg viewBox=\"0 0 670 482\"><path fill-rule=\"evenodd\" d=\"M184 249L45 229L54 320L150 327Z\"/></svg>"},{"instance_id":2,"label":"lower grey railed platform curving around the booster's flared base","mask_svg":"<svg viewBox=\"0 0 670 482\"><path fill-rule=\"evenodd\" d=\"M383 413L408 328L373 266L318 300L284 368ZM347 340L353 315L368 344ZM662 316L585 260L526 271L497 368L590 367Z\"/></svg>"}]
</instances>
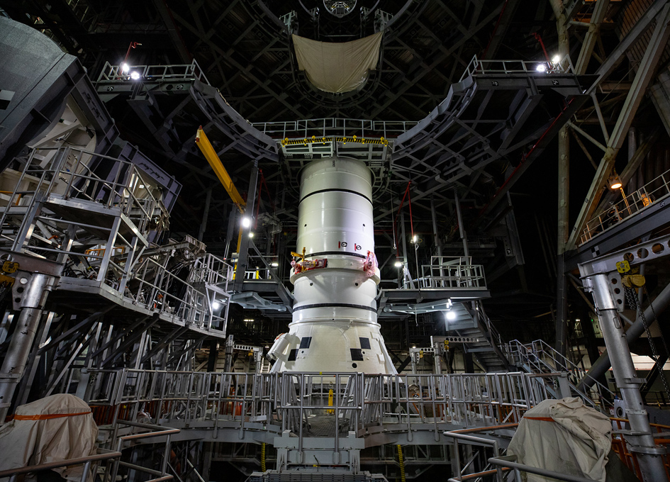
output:
<instances>
[{"instance_id":1,"label":"lower grey railed platform curving around the booster's flared base","mask_svg":"<svg viewBox=\"0 0 670 482\"><path fill-rule=\"evenodd\" d=\"M484 447L503 451L523 414L542 400L574 395L609 410L571 391L565 381L579 374L571 373L572 366L562 369L548 347L515 349L518 362L535 368L402 375L91 369L85 398L107 440L128 433L123 420L142 420L181 430L173 442L219 444L221 460L233 461L232 454L247 447L245 453L252 451L247 460L262 458L287 477L316 467L362 477L374 472L376 457L392 459L388 447L398 445L409 466L418 468L421 453L437 450L439 463L450 464L455 473L472 473L457 455L459 444L471 444L473 456ZM457 440L466 434L477 438ZM140 447L157 442L161 439L138 441ZM433 459L423 460L428 462Z\"/></svg>"}]
</instances>

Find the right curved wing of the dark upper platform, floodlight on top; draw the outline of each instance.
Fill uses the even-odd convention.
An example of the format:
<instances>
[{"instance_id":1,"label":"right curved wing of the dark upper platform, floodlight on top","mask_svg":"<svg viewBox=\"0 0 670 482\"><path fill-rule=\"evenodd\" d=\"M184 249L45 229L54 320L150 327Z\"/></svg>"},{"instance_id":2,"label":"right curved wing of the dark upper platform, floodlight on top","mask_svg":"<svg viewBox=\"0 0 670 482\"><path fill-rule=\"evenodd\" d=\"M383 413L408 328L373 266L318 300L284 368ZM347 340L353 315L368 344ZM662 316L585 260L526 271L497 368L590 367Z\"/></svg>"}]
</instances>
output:
<instances>
[{"instance_id":1,"label":"right curved wing of the dark upper platform, floodlight on top","mask_svg":"<svg viewBox=\"0 0 670 482\"><path fill-rule=\"evenodd\" d=\"M520 175L588 99L593 82L569 66L537 65L475 57L445 100L393 141L394 169L423 177L425 195L532 146Z\"/></svg>"}]
</instances>

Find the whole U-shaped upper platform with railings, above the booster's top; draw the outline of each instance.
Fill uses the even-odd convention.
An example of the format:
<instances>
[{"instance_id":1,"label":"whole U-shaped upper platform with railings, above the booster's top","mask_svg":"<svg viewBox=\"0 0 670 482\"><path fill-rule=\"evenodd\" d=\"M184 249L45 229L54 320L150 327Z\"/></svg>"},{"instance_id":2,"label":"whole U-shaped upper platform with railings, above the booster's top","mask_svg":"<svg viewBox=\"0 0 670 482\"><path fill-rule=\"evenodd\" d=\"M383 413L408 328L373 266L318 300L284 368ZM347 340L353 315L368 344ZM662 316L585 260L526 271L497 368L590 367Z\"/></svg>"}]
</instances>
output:
<instances>
[{"instance_id":1,"label":"whole U-shaped upper platform with railings, above the booster's top","mask_svg":"<svg viewBox=\"0 0 670 482\"><path fill-rule=\"evenodd\" d=\"M138 72L137 79L130 78L131 70ZM513 173L516 179L588 99L584 92L592 83L593 77L574 74L569 57L554 63L475 56L446 98L418 121L320 118L250 123L208 84L195 62L127 70L106 64L96 91L112 110L125 99L157 147L179 162L186 162L182 146L193 139L192 131L181 126L188 125L188 119L202 123L197 119L204 114L209 122L203 129L219 155L237 151L277 162L281 152L289 171L286 181L296 192L298 173L307 162L343 156L362 160L372 169L375 198L388 189L388 173L393 171L413 180L413 197L419 199L525 150ZM540 113L542 101L552 99L564 108L549 116ZM162 121L157 123L157 118ZM497 197L496 203L501 196Z\"/></svg>"}]
</instances>

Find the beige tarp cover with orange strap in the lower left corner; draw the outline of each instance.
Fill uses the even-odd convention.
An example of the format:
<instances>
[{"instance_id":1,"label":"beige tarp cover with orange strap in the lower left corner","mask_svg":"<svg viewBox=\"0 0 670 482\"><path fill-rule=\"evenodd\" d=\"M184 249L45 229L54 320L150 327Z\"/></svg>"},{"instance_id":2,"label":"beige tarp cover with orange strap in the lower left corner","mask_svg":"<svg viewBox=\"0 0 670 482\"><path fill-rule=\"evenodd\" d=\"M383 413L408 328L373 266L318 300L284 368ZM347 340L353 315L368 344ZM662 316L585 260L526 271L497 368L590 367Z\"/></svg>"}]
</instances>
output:
<instances>
[{"instance_id":1,"label":"beige tarp cover with orange strap in the lower left corner","mask_svg":"<svg viewBox=\"0 0 670 482\"><path fill-rule=\"evenodd\" d=\"M0 427L0 470L94 455L97 437L91 408L81 398L58 394L26 403L16 408L11 422ZM53 471L80 481L84 466Z\"/></svg>"}]
</instances>

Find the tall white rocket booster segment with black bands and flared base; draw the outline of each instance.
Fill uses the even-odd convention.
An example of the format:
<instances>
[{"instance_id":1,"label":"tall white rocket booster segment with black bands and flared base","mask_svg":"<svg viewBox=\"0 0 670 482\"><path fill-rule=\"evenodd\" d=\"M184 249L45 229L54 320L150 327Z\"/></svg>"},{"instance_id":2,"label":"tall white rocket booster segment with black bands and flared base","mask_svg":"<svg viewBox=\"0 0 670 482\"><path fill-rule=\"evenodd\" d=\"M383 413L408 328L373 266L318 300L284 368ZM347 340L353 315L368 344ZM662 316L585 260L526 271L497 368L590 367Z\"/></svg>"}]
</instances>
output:
<instances>
[{"instance_id":1,"label":"tall white rocket booster segment with black bands and flared base","mask_svg":"<svg viewBox=\"0 0 670 482\"><path fill-rule=\"evenodd\" d=\"M376 313L372 172L327 158L301 174L293 321L268 355L272 371L396 373Z\"/></svg>"}]
</instances>

